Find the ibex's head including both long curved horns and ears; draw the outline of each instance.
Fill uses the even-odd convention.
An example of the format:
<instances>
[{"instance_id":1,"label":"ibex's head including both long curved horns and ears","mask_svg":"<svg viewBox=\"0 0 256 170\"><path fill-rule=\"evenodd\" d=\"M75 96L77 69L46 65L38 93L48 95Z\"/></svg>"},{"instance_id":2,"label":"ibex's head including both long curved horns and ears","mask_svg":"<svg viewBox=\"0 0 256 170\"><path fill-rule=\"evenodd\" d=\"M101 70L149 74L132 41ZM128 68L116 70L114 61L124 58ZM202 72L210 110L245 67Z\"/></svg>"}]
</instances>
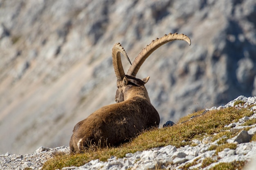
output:
<instances>
[{"instance_id":1,"label":"ibex's head including both long curved horns and ears","mask_svg":"<svg viewBox=\"0 0 256 170\"><path fill-rule=\"evenodd\" d=\"M126 54L126 51L121 46L120 43L117 43L113 46L112 49L112 58L113 58L113 66L115 69L115 74L117 76L117 92L115 96L115 101L123 102L125 100L125 92L128 90L128 88L131 88L132 85L134 86L144 86L146 82L148 82L149 77L146 77L144 79L137 79L135 78L137 75L137 72L139 71L139 68L144 63L146 58L153 53L157 48L162 46L163 44L166 44L167 42L171 42L173 40L184 40L191 44L191 41L189 37L187 37L184 34L177 34L177 33L169 33L168 35L164 35L162 38L157 38L156 40L153 40L149 45L147 45L142 51L139 53L139 55L135 58L134 62L130 62L130 59L128 55ZM122 66L121 62L121 55L122 53L126 59L130 62L131 66L127 72L127 75L124 73L124 68ZM130 86L128 86L130 85Z\"/></svg>"}]
</instances>

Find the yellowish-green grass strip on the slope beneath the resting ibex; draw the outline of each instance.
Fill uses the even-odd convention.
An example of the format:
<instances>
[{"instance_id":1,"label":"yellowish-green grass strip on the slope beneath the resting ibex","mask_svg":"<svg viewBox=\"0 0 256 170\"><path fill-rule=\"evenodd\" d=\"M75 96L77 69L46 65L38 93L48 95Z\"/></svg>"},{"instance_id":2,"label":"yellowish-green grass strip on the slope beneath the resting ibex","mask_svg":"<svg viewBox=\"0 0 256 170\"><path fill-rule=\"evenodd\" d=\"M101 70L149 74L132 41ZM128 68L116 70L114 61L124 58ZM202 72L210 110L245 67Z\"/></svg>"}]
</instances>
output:
<instances>
[{"instance_id":1,"label":"yellowish-green grass strip on the slope beneath the resting ibex","mask_svg":"<svg viewBox=\"0 0 256 170\"><path fill-rule=\"evenodd\" d=\"M230 107L222 110L209 111L202 116L187 121L194 115L201 115L202 112L203 111L199 111L183 117L174 126L160 129L155 128L142 132L138 137L132 139L132 141L122 144L119 147L98 148L97 150L88 150L86 153L76 155L56 154L52 159L45 162L43 170L61 169L68 166L81 166L94 159L107 161L111 156L122 158L125 157L127 153L135 153L137 151L167 145L173 145L179 148L191 144L191 140L193 139L202 140L207 136L212 136L213 141L223 135L230 138L232 137L232 134L227 131L223 132L223 129L225 129L224 126L232 122L237 122L242 117L253 114L247 109L238 110ZM180 122L183 121L187 122L180 124ZM224 144L222 145L225 145L225 141L223 143ZM218 146L216 146L215 149L217 148ZM207 162L211 162L211 160L207 160Z\"/></svg>"}]
</instances>

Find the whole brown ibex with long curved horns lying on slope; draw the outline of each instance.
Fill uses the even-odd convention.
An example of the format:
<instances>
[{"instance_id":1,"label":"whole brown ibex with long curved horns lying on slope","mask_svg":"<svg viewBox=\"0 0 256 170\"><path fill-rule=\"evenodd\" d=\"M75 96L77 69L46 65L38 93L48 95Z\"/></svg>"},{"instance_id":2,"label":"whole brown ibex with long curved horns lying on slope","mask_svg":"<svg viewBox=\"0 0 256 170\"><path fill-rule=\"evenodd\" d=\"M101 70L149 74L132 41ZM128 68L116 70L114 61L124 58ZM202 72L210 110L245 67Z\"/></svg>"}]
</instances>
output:
<instances>
[{"instance_id":1,"label":"whole brown ibex with long curved horns lying on slope","mask_svg":"<svg viewBox=\"0 0 256 170\"><path fill-rule=\"evenodd\" d=\"M70 139L70 153L83 152L91 144L106 147L117 146L138 135L144 129L159 126L159 114L150 103L144 86L149 77L135 78L146 58L158 47L173 40L184 40L191 44L184 34L168 34L153 40L142 49L131 64L127 75L121 63L122 53L130 62L126 51L117 43L112 49L113 66L117 77L116 104L103 106L74 126Z\"/></svg>"}]
</instances>

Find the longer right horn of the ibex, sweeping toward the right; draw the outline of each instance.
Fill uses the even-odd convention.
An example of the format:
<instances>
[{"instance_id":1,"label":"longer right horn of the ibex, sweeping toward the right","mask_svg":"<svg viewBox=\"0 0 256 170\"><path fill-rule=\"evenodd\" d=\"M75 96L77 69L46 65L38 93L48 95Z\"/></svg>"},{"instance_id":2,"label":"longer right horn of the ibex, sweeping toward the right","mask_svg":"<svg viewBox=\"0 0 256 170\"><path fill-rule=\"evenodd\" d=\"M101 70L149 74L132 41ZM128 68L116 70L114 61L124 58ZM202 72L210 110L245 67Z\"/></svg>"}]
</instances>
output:
<instances>
[{"instance_id":1,"label":"longer right horn of the ibex, sweeping toward the right","mask_svg":"<svg viewBox=\"0 0 256 170\"><path fill-rule=\"evenodd\" d=\"M134 62L132 62L132 65L130 66L127 75L135 77L141 65L144 63L146 58L151 53L153 53L153 51L158 49L158 47L166 44L167 42L171 42L173 40L184 40L189 43L189 45L191 44L190 38L184 34L169 33L168 35L164 35L162 38L157 38L156 40L153 40L149 45L147 45L144 49L142 49L139 55L135 58Z\"/></svg>"}]
</instances>

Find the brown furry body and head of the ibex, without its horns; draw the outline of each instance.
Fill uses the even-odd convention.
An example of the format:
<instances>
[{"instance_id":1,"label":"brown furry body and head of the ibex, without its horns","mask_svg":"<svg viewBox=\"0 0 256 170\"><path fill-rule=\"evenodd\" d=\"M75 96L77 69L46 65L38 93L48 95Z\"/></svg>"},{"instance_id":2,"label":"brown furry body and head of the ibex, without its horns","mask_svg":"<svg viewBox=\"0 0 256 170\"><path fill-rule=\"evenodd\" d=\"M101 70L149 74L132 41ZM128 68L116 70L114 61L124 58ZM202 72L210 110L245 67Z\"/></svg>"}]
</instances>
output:
<instances>
[{"instance_id":1,"label":"brown furry body and head of the ibex, without its horns","mask_svg":"<svg viewBox=\"0 0 256 170\"><path fill-rule=\"evenodd\" d=\"M117 146L143 129L158 127L159 114L150 103L144 86L148 79L126 75L118 81L116 100L119 103L104 106L76 124L70 139L70 152L82 152L92 144Z\"/></svg>"}]
</instances>

